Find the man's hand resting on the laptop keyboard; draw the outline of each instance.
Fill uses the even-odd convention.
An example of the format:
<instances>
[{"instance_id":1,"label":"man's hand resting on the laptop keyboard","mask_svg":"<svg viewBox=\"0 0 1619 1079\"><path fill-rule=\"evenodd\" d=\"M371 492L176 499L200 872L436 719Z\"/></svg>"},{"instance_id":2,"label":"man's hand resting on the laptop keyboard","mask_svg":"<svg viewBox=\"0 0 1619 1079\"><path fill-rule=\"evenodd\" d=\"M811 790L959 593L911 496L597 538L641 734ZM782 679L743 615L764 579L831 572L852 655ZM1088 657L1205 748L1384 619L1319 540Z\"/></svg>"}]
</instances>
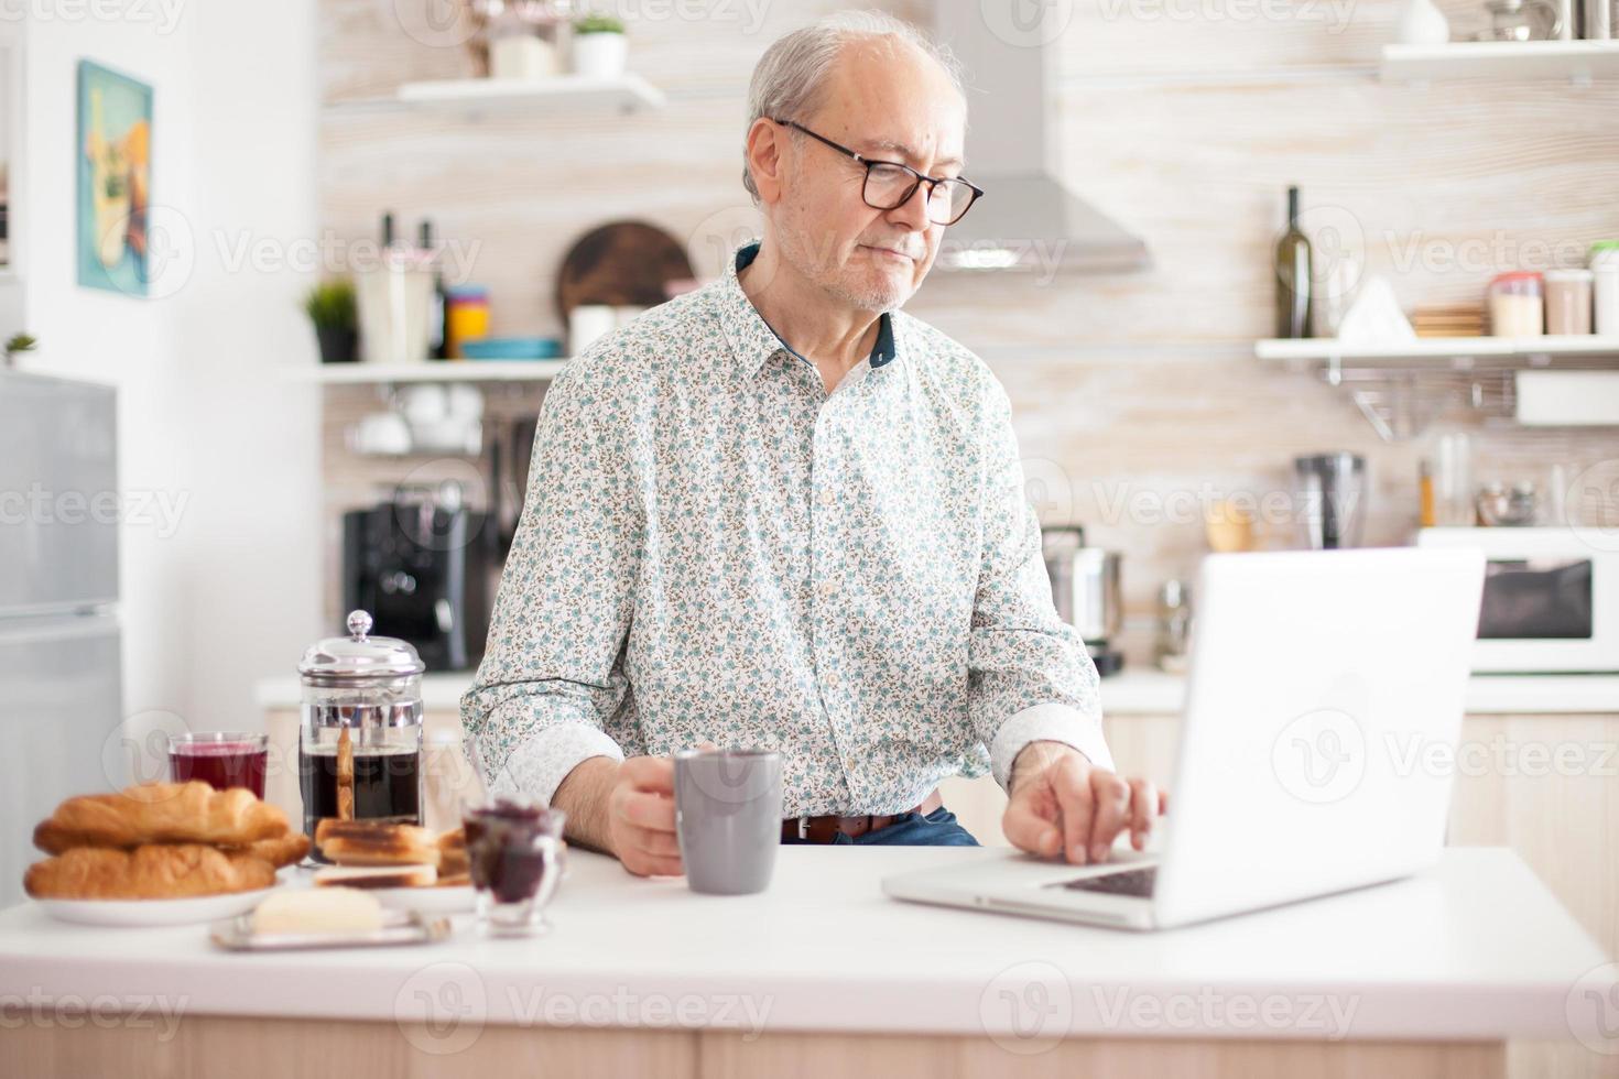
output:
<instances>
[{"instance_id":1,"label":"man's hand resting on the laptop keyboard","mask_svg":"<svg viewBox=\"0 0 1619 1079\"><path fill-rule=\"evenodd\" d=\"M1167 798L1149 780L1124 780L1094 767L1073 746L1030 743L1012 762L1010 798L1001 830L1031 854L1065 854L1075 865L1104 862L1114 838L1130 830L1143 849Z\"/></svg>"}]
</instances>

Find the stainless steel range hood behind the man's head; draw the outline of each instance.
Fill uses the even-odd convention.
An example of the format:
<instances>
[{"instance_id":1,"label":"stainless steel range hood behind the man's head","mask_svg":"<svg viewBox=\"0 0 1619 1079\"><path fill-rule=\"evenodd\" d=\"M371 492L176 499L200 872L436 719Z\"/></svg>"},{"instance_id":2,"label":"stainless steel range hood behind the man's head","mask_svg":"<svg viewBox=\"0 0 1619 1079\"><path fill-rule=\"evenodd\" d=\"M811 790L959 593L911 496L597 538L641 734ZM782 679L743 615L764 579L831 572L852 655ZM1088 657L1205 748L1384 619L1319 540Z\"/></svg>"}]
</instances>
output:
<instances>
[{"instance_id":1,"label":"stainless steel range hood behind the man's head","mask_svg":"<svg viewBox=\"0 0 1619 1079\"><path fill-rule=\"evenodd\" d=\"M1059 178L1056 44L1044 28L986 24L988 5L934 0L934 34L962 61L967 81L967 176L986 191L944 233L942 270L1138 270L1151 264L1140 236L1070 191ZM1017 3L1009 8L1017 8ZM1056 5L1039 5L1054 18Z\"/></svg>"}]
</instances>

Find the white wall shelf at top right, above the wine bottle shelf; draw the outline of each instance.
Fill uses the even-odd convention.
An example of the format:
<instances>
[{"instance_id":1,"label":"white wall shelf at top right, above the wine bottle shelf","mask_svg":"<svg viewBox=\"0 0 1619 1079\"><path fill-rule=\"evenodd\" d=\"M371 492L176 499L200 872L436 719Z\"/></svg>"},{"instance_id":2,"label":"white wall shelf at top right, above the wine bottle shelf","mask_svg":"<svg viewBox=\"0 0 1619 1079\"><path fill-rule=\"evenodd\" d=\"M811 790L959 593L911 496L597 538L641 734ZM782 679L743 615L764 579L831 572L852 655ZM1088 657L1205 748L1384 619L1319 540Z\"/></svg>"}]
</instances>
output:
<instances>
[{"instance_id":1,"label":"white wall shelf at top right, above the wine bottle shelf","mask_svg":"<svg viewBox=\"0 0 1619 1079\"><path fill-rule=\"evenodd\" d=\"M1386 81L1619 78L1619 40L1475 40L1384 45Z\"/></svg>"}]
</instances>

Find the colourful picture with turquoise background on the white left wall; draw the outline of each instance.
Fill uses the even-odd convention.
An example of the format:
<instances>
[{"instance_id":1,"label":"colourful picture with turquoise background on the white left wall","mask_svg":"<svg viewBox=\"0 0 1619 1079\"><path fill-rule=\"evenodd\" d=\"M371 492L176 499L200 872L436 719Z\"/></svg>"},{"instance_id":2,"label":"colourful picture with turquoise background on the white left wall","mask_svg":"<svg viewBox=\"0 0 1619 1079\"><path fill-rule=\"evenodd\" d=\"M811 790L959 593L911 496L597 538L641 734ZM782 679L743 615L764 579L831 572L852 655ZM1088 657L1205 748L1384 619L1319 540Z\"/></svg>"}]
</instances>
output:
<instances>
[{"instance_id":1,"label":"colourful picture with turquoise background on the white left wall","mask_svg":"<svg viewBox=\"0 0 1619 1079\"><path fill-rule=\"evenodd\" d=\"M152 87L79 60L79 285L147 294L152 193Z\"/></svg>"}]
</instances>

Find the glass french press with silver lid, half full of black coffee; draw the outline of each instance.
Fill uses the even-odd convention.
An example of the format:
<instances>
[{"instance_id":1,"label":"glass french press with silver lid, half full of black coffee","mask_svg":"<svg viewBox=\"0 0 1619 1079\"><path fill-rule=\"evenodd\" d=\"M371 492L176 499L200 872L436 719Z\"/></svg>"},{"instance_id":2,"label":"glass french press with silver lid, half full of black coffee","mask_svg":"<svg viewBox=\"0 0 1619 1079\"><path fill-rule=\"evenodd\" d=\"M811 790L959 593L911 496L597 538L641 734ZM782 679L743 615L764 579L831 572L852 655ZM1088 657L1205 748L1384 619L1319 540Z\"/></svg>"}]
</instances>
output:
<instances>
[{"instance_id":1,"label":"glass french press with silver lid, half full of black coffee","mask_svg":"<svg viewBox=\"0 0 1619 1079\"><path fill-rule=\"evenodd\" d=\"M317 641L298 665L298 786L304 831L325 817L421 823L421 673L416 649L372 637L353 611L346 637Z\"/></svg>"}]
</instances>

